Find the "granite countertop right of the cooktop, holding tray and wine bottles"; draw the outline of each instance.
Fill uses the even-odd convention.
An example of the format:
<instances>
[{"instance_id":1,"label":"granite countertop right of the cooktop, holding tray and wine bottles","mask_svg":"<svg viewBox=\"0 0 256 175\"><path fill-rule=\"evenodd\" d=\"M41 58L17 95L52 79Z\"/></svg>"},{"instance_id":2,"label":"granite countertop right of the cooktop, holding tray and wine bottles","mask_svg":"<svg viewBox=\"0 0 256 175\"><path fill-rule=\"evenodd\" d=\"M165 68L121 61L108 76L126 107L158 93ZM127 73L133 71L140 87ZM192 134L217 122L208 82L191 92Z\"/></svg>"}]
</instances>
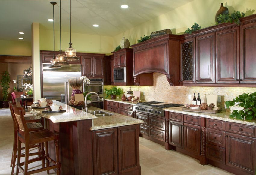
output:
<instances>
[{"instance_id":1,"label":"granite countertop right of the cooktop, holding tray and wine bottles","mask_svg":"<svg viewBox=\"0 0 256 175\"><path fill-rule=\"evenodd\" d=\"M205 117L205 118L210 118L210 119L217 119L217 120L223 120L223 121L228 121L228 122L234 122L234 123L256 126L256 119L254 119L254 120L235 119L235 118L229 117L230 112L226 111L226 110L221 111L221 112L216 113L216 114L189 112L189 111L183 111L182 108L171 108L171 107L170 108L165 108L164 110L169 111L169 112L182 113L182 114L188 114L188 115L192 115L192 116L199 116L199 117Z\"/></svg>"}]
</instances>

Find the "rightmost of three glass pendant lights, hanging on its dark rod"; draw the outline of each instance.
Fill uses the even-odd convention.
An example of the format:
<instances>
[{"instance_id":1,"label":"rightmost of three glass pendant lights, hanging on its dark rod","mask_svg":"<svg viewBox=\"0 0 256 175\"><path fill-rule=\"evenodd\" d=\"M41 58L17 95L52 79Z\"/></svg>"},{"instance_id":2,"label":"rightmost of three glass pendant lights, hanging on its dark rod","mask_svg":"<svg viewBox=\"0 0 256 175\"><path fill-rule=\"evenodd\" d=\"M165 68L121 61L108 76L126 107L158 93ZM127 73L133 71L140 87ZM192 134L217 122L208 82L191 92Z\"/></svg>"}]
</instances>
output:
<instances>
[{"instance_id":1,"label":"rightmost of three glass pendant lights, hanging on its dark rod","mask_svg":"<svg viewBox=\"0 0 256 175\"><path fill-rule=\"evenodd\" d=\"M69 13L70 42L69 42L69 48L65 50L66 57L64 57L63 59L66 61L79 61L79 58L76 56L76 50L72 47L72 43L71 43L71 0L69 0L69 11L70 11Z\"/></svg>"}]
</instances>

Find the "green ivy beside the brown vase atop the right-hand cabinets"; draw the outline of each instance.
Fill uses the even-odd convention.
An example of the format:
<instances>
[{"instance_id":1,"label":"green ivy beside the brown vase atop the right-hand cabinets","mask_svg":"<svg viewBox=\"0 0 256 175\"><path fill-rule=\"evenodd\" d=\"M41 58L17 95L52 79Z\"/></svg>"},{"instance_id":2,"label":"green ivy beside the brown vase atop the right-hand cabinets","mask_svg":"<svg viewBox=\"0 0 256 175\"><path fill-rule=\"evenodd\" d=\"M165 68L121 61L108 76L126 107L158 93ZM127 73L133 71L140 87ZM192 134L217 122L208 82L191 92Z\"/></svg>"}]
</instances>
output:
<instances>
[{"instance_id":1,"label":"green ivy beside the brown vase atop the right-hand cabinets","mask_svg":"<svg viewBox=\"0 0 256 175\"><path fill-rule=\"evenodd\" d=\"M234 23L239 24L240 20L239 18L244 17L245 14L244 13L240 13L239 11L234 11L232 14L220 14L217 17L218 22L216 24L220 24L220 23L232 23L234 21Z\"/></svg>"}]
</instances>

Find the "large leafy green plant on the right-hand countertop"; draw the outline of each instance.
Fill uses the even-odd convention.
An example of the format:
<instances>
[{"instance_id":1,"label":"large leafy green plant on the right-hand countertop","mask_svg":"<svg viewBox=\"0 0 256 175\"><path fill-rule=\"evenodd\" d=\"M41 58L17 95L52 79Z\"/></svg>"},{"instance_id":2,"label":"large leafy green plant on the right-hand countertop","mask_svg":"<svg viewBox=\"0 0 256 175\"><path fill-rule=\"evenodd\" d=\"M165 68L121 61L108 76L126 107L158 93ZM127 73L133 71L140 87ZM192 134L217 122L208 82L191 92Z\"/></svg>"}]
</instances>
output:
<instances>
[{"instance_id":1,"label":"large leafy green plant on the right-hand countertop","mask_svg":"<svg viewBox=\"0 0 256 175\"><path fill-rule=\"evenodd\" d=\"M238 95L238 97L233 98L232 101L225 102L227 108L229 108L229 106L239 106L243 108L242 110L233 110L229 115L230 117L244 120L256 118L256 92L251 93L250 95L248 94L243 93L242 95Z\"/></svg>"}]
</instances>

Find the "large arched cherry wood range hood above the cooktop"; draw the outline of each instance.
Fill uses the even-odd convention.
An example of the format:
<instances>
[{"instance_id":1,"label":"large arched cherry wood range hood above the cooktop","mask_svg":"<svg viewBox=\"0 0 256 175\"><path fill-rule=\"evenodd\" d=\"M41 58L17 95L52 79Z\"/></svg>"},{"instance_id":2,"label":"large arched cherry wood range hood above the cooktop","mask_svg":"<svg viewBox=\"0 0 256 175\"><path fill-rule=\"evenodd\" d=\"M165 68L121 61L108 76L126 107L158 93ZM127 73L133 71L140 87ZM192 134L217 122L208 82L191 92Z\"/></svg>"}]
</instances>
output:
<instances>
[{"instance_id":1,"label":"large arched cherry wood range hood above the cooktop","mask_svg":"<svg viewBox=\"0 0 256 175\"><path fill-rule=\"evenodd\" d=\"M134 85L153 85L153 73L158 72L170 86L179 86L179 35L165 34L131 47Z\"/></svg>"}]
</instances>

